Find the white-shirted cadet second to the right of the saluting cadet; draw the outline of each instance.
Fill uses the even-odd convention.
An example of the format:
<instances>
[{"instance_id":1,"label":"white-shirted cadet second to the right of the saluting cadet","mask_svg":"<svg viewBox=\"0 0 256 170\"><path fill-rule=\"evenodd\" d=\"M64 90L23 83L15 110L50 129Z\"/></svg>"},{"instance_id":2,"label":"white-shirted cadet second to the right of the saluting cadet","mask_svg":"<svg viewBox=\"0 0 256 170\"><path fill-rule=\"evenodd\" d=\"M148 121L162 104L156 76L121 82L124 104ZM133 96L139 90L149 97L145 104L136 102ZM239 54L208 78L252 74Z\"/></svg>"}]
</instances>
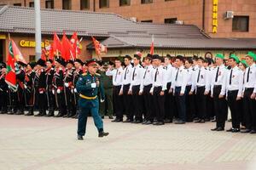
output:
<instances>
[{"instance_id":1,"label":"white-shirted cadet second to the right of the saluting cadet","mask_svg":"<svg viewBox=\"0 0 256 170\"><path fill-rule=\"evenodd\" d=\"M131 119L135 116L134 123L143 122L143 96L139 92L143 91L143 75L144 69L140 65L141 56L134 54L133 68L131 70L131 85L129 88L129 94L132 94L132 108Z\"/></svg>"}]
</instances>

